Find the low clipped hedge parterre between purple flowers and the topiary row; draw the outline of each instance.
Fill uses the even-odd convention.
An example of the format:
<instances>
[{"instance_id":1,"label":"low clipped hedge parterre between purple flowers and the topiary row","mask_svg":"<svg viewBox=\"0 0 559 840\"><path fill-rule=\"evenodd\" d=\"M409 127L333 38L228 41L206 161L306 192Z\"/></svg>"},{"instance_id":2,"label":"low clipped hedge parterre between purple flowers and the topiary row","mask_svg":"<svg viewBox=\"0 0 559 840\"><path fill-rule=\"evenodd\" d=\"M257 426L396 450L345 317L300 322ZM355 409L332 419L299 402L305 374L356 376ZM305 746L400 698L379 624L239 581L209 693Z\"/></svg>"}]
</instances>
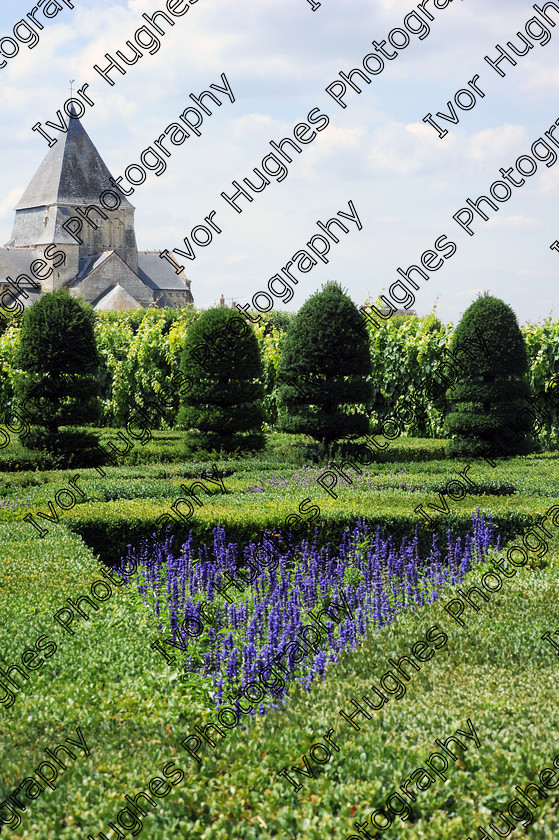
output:
<instances>
[{"instance_id":1,"label":"low clipped hedge parterre between purple flowers and the topiary row","mask_svg":"<svg viewBox=\"0 0 559 840\"><path fill-rule=\"evenodd\" d=\"M433 446L434 442L428 443ZM394 449L395 457L405 457L409 451L405 441L395 442ZM419 524L423 550L429 547L433 530L443 542L449 527L455 536L464 535L478 505L485 516L493 516L503 538L510 539L529 527L549 507L548 499L557 494L556 459L555 453L543 453L501 460L494 468L483 461L395 461L362 468L362 474L346 466L344 472L351 483L338 474L337 484L330 491L325 486L330 488L331 480L322 484L317 481L329 471L328 462L303 469L288 467L281 460L229 458L107 467L104 478L93 469L26 471L6 476L15 486L7 488L0 499L17 502L20 507L17 511L0 508L0 522L26 518L29 537L39 539L40 528L70 528L111 563L118 562L127 545L137 545L152 533L162 516L172 517L169 524L176 544L186 540L191 530L197 543L208 542L216 523L221 523L232 539L243 543L258 538L266 528L292 527L303 536L318 527L320 539L326 544L339 540L361 516L380 524L385 539L389 535L398 540L410 537ZM191 500L189 516L189 508L177 508L176 502L185 498L184 488L188 489L197 476L205 470L211 473L212 463L223 476L222 486L214 481L205 482L205 490L198 488L201 505ZM446 488L468 466L472 485L467 485L464 498L454 500ZM65 510L57 499L65 505L72 503L65 491L73 489L70 482L76 473L76 503ZM282 483L284 486L275 486ZM264 487L264 492L258 489ZM179 517L177 510L184 515Z\"/></svg>"}]
</instances>

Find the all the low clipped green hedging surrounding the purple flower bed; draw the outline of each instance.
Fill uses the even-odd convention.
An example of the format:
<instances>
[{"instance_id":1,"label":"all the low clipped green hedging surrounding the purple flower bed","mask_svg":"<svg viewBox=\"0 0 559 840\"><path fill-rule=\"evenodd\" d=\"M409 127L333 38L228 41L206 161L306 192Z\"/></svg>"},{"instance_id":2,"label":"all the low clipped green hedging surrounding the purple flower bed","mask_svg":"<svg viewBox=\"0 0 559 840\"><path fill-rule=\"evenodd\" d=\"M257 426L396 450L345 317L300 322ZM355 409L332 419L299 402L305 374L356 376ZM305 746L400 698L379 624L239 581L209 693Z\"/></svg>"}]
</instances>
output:
<instances>
[{"instance_id":1,"label":"all the low clipped green hedging surrounding the purple flower bed","mask_svg":"<svg viewBox=\"0 0 559 840\"><path fill-rule=\"evenodd\" d=\"M155 446L157 434L149 446ZM161 433L169 438L169 447L180 446L171 434ZM302 471L304 460L288 461L283 451L287 446L278 436L273 450L259 458L217 461L225 493L217 484L211 496L201 493L202 506L195 506L190 521L177 522L177 541L192 528L203 542L218 521L240 540L249 539L265 526L281 525L310 498L320 508L325 541L334 540L357 516L379 522L387 533L412 534L418 525L427 539L433 529L444 534L449 526L462 527L479 506L518 544L521 537L515 535L559 504L555 453L499 461L495 468L472 462L471 493L457 501L445 496L449 512L437 513L429 505L440 507L439 493L468 466L443 460L442 441L394 442L393 461L363 467L362 475L348 472L354 480L338 482L337 498L316 481L327 465ZM128 830L121 828L125 837L137 834L139 825L140 836L150 840L358 837L354 823L369 820L415 770L426 766L438 750L435 739L445 741L457 729L468 732L468 719L479 747L468 740L458 760L449 760L446 780L436 777L423 792L415 785L409 788L417 801L407 821L395 816L386 830L377 832L370 823L367 830L371 836L410 840L473 840L481 836L479 825L487 828L491 820L501 825L498 812L507 810L515 786L541 784L539 772L552 768L559 755L559 660L541 639L544 632L559 629L559 529L550 526L553 537L545 556L532 554L489 602L480 602L479 612L465 610L464 627L444 610L452 597L447 587L440 601L404 612L370 634L330 665L326 678L315 680L310 691L293 686L285 708L254 718L246 729L227 730L223 739L216 736L215 749L209 744L200 749L199 764L180 741L194 734L196 726L214 720L215 710L203 691L185 687L179 669L150 648L157 620L141 598L113 585L98 611L90 609L89 618L79 617L71 625L73 635L53 615L68 606L66 599L75 604L79 596L90 596L92 583L106 580L99 556L112 559L118 553L115 546L137 544L155 518L172 509L181 483L188 484L210 466L170 457L107 467L104 478L95 470L80 469L0 473L0 501L5 502L0 505L0 667L25 667L22 654L38 650L41 638L44 657L37 670L28 668L27 680L11 673L19 683L17 689L12 685L11 705L8 692L0 689L1 800L24 777L38 778L40 763L53 761L45 749L68 745L66 738L77 740L78 727L89 751L85 755L70 747L75 759L61 755L67 769L60 769L52 782L56 789L46 787L35 801L25 799L26 810L15 812L12 825L3 827L4 836L85 840L91 835L97 840L98 832L104 832L118 837L109 822L127 806L125 795L150 795L150 781L162 777L164 767L169 774L168 762L174 761L184 778L174 777L176 787L165 798L152 795L157 806L146 806L146 817L131 822ZM56 494L77 473L83 495L63 510ZM258 484L265 489L255 490ZM56 506L57 524L38 516L51 513L49 501ZM416 512L419 505L432 514L432 527ZM48 528L44 537L24 519L29 514ZM479 577L479 571L471 572L461 589ZM85 602L82 609L87 610ZM372 687L390 668L388 660L409 655L435 625L447 641L419 672L411 672L405 696L390 697L379 711L369 709L368 720L358 715L360 729L353 729L340 710L350 714L352 699L372 699ZM56 650L45 649L47 641ZM0 681L7 682L1 676ZM290 771L303 785L294 790L278 772L292 766L304 769L302 756L310 755L313 744L324 743L331 729L339 752L333 750L322 765L311 761L312 777ZM532 838L559 836L553 790L531 813ZM2 815L7 822L6 807L0 809ZM515 831L520 835L524 830L521 820Z\"/></svg>"}]
</instances>

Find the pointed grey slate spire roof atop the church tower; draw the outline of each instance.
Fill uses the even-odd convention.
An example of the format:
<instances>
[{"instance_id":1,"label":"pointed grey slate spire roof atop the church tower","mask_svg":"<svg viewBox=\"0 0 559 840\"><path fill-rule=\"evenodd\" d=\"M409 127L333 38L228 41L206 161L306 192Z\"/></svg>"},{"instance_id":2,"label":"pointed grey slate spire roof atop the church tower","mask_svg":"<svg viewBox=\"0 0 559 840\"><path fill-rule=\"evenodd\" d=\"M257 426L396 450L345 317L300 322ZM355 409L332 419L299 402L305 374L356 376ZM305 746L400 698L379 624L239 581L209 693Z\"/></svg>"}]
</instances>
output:
<instances>
[{"instance_id":1,"label":"pointed grey slate spire roof atop the church tower","mask_svg":"<svg viewBox=\"0 0 559 840\"><path fill-rule=\"evenodd\" d=\"M78 117L68 117L68 131L47 152L16 210L52 204L99 205L103 190L114 189L111 173ZM131 208L125 198L121 207Z\"/></svg>"}]
</instances>

